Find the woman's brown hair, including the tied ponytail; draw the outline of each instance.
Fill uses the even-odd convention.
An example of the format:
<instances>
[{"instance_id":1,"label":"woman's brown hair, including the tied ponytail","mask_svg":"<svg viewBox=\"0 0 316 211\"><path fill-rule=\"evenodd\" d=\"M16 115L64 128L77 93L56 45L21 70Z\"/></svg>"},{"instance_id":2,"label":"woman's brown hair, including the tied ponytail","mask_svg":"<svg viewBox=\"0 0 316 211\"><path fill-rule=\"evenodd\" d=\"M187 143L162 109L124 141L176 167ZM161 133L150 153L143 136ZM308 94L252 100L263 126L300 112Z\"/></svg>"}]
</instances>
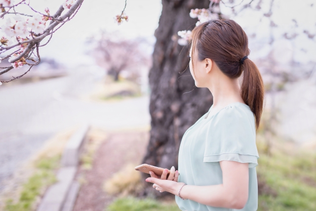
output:
<instances>
[{"instance_id":1,"label":"woman's brown hair, including the tied ponytail","mask_svg":"<svg viewBox=\"0 0 316 211\"><path fill-rule=\"evenodd\" d=\"M257 66L248 56L248 38L242 28L233 20L210 20L198 25L192 31L192 52L197 50L199 61L212 59L229 78L238 78L243 72L240 95L255 116L259 127L263 109L264 86ZM192 53L192 65L193 65Z\"/></svg>"}]
</instances>

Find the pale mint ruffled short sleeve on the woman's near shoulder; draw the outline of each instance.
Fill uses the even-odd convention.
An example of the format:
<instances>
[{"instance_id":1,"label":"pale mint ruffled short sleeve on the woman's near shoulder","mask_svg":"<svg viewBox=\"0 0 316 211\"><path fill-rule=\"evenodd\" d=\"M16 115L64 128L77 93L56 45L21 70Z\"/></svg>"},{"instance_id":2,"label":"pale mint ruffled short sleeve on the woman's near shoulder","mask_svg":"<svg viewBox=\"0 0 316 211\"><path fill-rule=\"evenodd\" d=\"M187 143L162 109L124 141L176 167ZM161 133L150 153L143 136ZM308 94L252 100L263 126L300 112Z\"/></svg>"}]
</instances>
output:
<instances>
[{"instance_id":1,"label":"pale mint ruffled short sleeve on the woman's near shoulder","mask_svg":"<svg viewBox=\"0 0 316 211\"><path fill-rule=\"evenodd\" d=\"M215 114L207 129L203 162L219 165L220 161L258 166L255 120L245 104L226 106Z\"/></svg>"}]
</instances>

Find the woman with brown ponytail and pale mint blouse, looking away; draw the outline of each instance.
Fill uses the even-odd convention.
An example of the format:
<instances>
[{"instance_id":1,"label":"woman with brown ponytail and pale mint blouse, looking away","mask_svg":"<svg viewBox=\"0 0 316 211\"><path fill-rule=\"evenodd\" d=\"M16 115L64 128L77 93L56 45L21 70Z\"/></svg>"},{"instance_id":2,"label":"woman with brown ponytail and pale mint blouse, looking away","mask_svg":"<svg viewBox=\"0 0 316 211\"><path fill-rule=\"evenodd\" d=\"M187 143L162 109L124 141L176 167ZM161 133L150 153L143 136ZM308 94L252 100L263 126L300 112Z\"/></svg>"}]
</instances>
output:
<instances>
[{"instance_id":1,"label":"woman with brown ponytail and pale mint blouse, looking away","mask_svg":"<svg viewBox=\"0 0 316 211\"><path fill-rule=\"evenodd\" d=\"M151 172L146 181L174 194L182 211L256 211L256 129L264 87L247 58L247 36L233 20L204 22L192 35L190 72L197 87L211 91L213 105L183 135L180 174L172 167L168 178L164 169L161 177Z\"/></svg>"}]
</instances>

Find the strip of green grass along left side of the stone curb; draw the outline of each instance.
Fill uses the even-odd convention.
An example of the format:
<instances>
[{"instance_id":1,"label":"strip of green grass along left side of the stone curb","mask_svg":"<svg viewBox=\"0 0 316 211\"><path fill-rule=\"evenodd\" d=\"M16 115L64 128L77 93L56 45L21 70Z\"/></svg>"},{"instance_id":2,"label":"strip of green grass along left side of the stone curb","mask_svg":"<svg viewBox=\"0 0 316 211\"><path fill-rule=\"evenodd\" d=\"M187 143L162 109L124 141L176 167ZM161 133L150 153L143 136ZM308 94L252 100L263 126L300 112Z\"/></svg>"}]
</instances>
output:
<instances>
[{"instance_id":1,"label":"strip of green grass along left side of the stone curb","mask_svg":"<svg viewBox=\"0 0 316 211\"><path fill-rule=\"evenodd\" d=\"M36 172L23 185L19 200L6 202L5 211L33 211L34 202L42 188L56 182L54 170L58 168L60 156L43 158L36 162Z\"/></svg>"}]
</instances>

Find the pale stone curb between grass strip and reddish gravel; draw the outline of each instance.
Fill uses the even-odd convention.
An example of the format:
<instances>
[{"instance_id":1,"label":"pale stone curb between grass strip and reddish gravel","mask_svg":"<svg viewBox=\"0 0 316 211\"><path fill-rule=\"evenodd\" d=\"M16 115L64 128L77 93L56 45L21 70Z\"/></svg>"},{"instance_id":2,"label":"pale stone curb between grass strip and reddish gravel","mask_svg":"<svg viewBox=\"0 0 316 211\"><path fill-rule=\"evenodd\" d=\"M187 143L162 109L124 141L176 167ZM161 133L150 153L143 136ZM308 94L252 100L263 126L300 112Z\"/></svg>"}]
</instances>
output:
<instances>
[{"instance_id":1,"label":"pale stone curb between grass strip and reddish gravel","mask_svg":"<svg viewBox=\"0 0 316 211\"><path fill-rule=\"evenodd\" d=\"M74 181L79 164L79 152L89 130L88 125L80 127L68 140L58 170L57 180L45 192L37 211L72 211L80 185Z\"/></svg>"}]
</instances>

